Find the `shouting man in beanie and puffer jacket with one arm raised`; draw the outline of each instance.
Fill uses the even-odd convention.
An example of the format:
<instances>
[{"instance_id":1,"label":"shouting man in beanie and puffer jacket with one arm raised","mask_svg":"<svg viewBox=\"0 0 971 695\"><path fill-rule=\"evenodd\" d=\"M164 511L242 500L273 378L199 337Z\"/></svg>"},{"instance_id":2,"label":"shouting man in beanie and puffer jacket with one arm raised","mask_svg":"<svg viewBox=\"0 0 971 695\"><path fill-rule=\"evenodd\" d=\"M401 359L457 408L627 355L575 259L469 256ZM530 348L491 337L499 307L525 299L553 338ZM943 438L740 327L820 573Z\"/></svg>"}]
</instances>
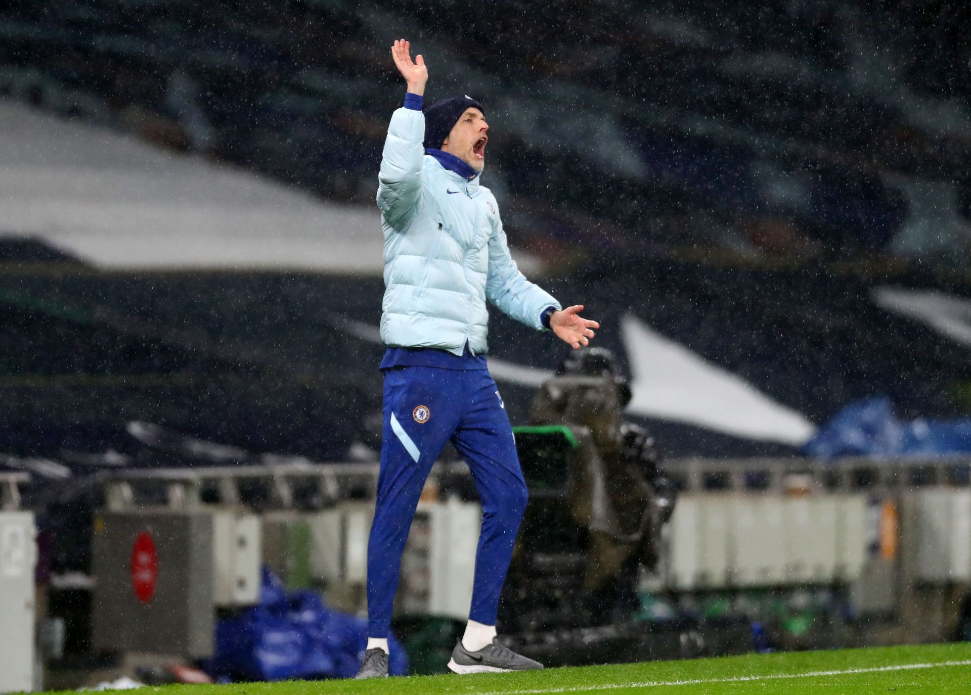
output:
<instances>
[{"instance_id":1,"label":"shouting man in beanie and puffer jacket with one arm raised","mask_svg":"<svg viewBox=\"0 0 971 695\"><path fill-rule=\"evenodd\" d=\"M596 321L583 306L561 310L510 258L497 204L479 184L488 124L479 102L445 99L421 112L428 72L394 42L408 85L391 116L378 207L385 233L381 336L388 347L381 473L368 543L368 644L357 678L387 676L387 633L401 553L421 488L449 441L466 459L483 505L472 609L452 651L455 673L543 668L495 642L499 594L509 568L526 485L509 416L485 365L486 299L513 318L549 328L573 348Z\"/></svg>"}]
</instances>

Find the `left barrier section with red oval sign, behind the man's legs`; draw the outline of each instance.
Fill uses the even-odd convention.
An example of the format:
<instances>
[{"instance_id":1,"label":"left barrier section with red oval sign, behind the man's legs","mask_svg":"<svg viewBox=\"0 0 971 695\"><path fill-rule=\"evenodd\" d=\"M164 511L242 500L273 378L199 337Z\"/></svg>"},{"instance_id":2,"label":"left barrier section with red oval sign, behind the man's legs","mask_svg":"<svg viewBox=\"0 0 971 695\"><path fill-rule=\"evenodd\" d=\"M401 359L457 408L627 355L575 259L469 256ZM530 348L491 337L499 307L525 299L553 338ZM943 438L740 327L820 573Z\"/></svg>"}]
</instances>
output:
<instances>
[{"instance_id":1,"label":"left barrier section with red oval sign, behind the man's legs","mask_svg":"<svg viewBox=\"0 0 971 695\"><path fill-rule=\"evenodd\" d=\"M461 465L464 469L464 465ZM218 612L255 605L261 567L327 605L365 603L377 466L285 465L141 470L106 480L95 517L92 643L96 648L206 657ZM402 557L395 611L465 617L482 508L437 500L440 464Z\"/></svg>"}]
</instances>

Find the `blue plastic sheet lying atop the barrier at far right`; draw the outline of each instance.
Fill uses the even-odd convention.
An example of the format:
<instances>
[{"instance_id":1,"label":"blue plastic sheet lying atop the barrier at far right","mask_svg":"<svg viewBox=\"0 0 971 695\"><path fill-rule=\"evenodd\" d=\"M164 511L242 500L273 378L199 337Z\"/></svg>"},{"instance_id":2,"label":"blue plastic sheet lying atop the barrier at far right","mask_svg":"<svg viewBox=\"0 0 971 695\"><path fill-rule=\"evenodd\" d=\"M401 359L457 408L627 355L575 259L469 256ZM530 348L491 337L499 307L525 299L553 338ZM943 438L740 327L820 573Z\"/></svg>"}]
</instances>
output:
<instances>
[{"instance_id":1,"label":"blue plastic sheet lying atop the barrier at far right","mask_svg":"<svg viewBox=\"0 0 971 695\"><path fill-rule=\"evenodd\" d=\"M903 421L888 398L850 404L803 447L821 458L839 456L944 456L971 452L971 418Z\"/></svg>"}]
</instances>

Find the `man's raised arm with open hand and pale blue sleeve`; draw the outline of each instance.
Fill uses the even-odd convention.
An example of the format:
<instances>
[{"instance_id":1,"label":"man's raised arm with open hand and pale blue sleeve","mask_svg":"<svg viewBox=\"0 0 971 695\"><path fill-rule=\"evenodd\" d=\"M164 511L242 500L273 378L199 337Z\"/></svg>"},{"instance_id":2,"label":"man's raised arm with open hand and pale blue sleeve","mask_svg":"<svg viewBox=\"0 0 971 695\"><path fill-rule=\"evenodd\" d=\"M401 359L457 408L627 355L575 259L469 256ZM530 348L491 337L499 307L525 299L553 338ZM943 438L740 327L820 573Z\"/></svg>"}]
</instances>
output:
<instances>
[{"instance_id":1,"label":"man's raised arm with open hand and pale blue sleeve","mask_svg":"<svg viewBox=\"0 0 971 695\"><path fill-rule=\"evenodd\" d=\"M392 227L403 231L421 199L421 155L424 154L421 98L428 82L428 69L420 55L416 57L417 62L412 62L411 44L404 39L394 42L391 57L408 85L408 92L405 105L394 112L387 127L378 174L378 209Z\"/></svg>"}]
</instances>

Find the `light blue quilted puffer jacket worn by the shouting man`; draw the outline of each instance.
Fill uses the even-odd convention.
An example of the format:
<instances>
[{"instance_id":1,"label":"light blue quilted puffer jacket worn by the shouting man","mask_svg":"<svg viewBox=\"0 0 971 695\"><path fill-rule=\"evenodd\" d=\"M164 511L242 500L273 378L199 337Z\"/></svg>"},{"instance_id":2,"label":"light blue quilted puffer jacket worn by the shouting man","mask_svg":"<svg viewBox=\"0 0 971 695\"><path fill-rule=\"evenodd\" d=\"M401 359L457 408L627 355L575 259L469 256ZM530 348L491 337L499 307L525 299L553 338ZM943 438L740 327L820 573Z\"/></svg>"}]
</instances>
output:
<instances>
[{"instance_id":1,"label":"light blue quilted puffer jacket worn by the shouting man","mask_svg":"<svg viewBox=\"0 0 971 695\"><path fill-rule=\"evenodd\" d=\"M561 307L510 257L495 197L479 177L465 181L424 154L423 140L424 115L395 111L378 177L385 345L460 355L467 341L472 352L485 354L486 299L542 330L543 310Z\"/></svg>"}]
</instances>

